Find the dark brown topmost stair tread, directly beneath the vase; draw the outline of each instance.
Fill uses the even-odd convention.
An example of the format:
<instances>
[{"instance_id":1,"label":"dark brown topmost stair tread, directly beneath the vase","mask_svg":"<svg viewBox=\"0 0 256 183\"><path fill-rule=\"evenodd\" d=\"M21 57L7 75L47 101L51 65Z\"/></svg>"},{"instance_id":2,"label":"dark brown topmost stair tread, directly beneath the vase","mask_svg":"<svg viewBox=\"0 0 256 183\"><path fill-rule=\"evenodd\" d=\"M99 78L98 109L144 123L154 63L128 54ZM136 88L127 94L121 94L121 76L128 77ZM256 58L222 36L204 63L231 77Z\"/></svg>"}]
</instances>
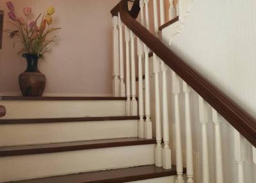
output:
<instances>
[{"instance_id":1,"label":"dark brown topmost stair tread, directly beneath the vase","mask_svg":"<svg viewBox=\"0 0 256 183\"><path fill-rule=\"evenodd\" d=\"M2 100L126 100L126 97L17 97L3 96Z\"/></svg>"}]
</instances>

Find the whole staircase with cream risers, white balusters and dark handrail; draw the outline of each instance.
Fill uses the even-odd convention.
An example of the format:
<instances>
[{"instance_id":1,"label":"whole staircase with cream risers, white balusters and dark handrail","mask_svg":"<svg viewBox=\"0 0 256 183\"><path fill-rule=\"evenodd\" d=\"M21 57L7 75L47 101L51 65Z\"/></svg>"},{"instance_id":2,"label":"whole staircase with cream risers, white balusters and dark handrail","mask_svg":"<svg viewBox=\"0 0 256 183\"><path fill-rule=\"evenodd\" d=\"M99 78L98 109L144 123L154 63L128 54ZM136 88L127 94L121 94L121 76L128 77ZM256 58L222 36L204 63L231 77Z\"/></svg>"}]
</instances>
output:
<instances>
[{"instance_id":1,"label":"whole staircase with cream risers, white balusters and dark handrail","mask_svg":"<svg viewBox=\"0 0 256 183\"><path fill-rule=\"evenodd\" d=\"M170 50L191 3L111 10L113 97L1 97L0 182L254 183L256 120Z\"/></svg>"}]
</instances>

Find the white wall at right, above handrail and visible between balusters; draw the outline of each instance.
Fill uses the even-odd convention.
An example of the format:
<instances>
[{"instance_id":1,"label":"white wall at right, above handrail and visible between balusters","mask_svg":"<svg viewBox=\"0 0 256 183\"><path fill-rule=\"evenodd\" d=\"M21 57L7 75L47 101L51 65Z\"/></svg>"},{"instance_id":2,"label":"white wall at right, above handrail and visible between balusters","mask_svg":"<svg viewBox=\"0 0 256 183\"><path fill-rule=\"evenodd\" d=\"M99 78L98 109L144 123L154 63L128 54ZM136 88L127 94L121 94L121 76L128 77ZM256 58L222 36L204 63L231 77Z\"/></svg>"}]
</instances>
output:
<instances>
[{"instance_id":1,"label":"white wall at right, above handrail and visible between balusters","mask_svg":"<svg viewBox=\"0 0 256 183\"><path fill-rule=\"evenodd\" d=\"M190 7L184 27L174 37L170 49L195 68L200 74L218 86L248 113L256 117L256 1L195 0ZM171 80L169 81L171 83ZM169 93L172 93L169 87ZM182 90L181 90L182 91ZM173 123L173 101L170 96L170 122ZM184 94L180 95L182 120L182 147L184 141ZM192 92L191 113L193 122L193 148L201 154L201 129L198 118L198 95ZM210 112L210 108L208 110ZM214 182L214 127L209 118L209 150L211 180ZM173 131L172 131L173 134ZM234 159L233 129L221 120L224 182L237 182L237 166ZM172 138L172 136L171 136ZM172 141L174 139L172 138ZM172 145L172 150L174 150ZM253 183L256 168L252 163L252 145L244 148L245 182ZM200 165L200 173L202 166ZM199 174L200 176L200 174ZM254 179L254 181L253 181Z\"/></svg>"}]
</instances>

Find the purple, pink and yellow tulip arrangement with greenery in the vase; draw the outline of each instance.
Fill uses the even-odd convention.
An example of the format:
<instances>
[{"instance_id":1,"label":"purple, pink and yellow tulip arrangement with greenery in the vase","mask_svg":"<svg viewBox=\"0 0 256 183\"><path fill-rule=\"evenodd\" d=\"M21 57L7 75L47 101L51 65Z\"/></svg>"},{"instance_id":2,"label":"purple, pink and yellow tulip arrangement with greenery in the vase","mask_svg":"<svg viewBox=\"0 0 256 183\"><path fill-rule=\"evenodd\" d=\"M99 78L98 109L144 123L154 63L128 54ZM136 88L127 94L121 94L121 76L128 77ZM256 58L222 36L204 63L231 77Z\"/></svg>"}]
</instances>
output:
<instances>
[{"instance_id":1,"label":"purple, pink and yellow tulip arrangement with greenery in the vase","mask_svg":"<svg viewBox=\"0 0 256 183\"><path fill-rule=\"evenodd\" d=\"M13 44L13 47L15 47L17 42L20 42L22 45L22 49L18 54L22 56L31 54L38 56L38 58L44 57L44 54L49 51L49 44L56 40L56 36L53 36L51 39L47 39L47 36L49 33L60 29L51 28L52 15L54 14L55 9L50 6L43 16L42 13L40 13L35 20L28 22L32 12L30 7L25 7L23 9L24 19L24 17L17 17L15 7L11 1L7 1L6 5L10 10L8 15L11 21L8 21L8 23L12 24L15 27L15 30L7 30L5 32L10 33L10 38L19 38L19 40L15 41ZM42 19L38 22L41 16Z\"/></svg>"}]
</instances>

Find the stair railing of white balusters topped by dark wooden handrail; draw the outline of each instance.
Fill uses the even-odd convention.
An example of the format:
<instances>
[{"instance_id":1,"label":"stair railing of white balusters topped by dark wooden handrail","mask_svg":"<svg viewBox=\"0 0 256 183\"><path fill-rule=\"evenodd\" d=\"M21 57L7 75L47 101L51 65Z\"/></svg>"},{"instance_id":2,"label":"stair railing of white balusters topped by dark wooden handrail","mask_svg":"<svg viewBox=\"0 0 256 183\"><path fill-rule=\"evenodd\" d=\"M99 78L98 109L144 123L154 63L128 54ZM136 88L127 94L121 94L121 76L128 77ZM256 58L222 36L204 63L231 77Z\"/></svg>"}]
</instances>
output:
<instances>
[{"instance_id":1,"label":"stair railing of white balusters topped by dark wooden handrail","mask_svg":"<svg viewBox=\"0 0 256 183\"><path fill-rule=\"evenodd\" d=\"M154 12L150 13L149 4L153 3ZM182 6L184 0L179 0L179 6ZM186 3L186 2L185 2ZM157 5L159 4L159 8ZM216 182L224 182L224 171L221 149L221 116L234 127L234 146L235 157L237 162L237 180L239 183L244 182L243 158L241 150L243 141L241 138L246 138L252 144L253 163L256 165L256 120L246 113L239 105L231 100L227 95L221 92L216 86L207 81L205 77L200 75L196 70L182 61L175 55L159 38L159 20L161 25L164 24L165 15L164 1L159 0L135 0L131 10L128 10L127 0L122 0L118 3L111 14L113 16L113 88L115 96L124 96L124 87L126 83L127 97L127 115L136 115L136 103L132 104L136 96L135 90L135 39L137 39L137 56L138 56L138 111L140 120L138 122L138 134L140 138L152 138L152 120L150 113L150 93L154 93L154 122L156 124L156 166L163 166L165 169L172 168L171 150L169 147L169 122L168 122L168 93L167 91L167 75L166 71L172 69L172 94L174 100L174 121L175 121L175 151L176 151L176 168L177 168L177 183L185 181L183 173L182 159L182 133L180 124L180 79L182 79L182 88L184 92L184 113L185 113L185 157L186 157L186 182L194 182L194 163L193 163L193 141L191 131L191 106L190 93L191 89L198 93L198 110L199 122L202 126L202 182L210 182L209 168L209 147L207 139L207 125L209 118L206 104L211 106L211 120L214 123L214 155L215 155L215 179ZM158 10L160 10L158 12ZM140 13L139 20L136 20ZM169 19L174 19L177 15L173 0L170 0L170 8L168 10ZM183 12L182 8L179 11L179 20L184 17L180 16ZM150 32L150 15L154 15L154 33ZM176 19L176 18L175 18ZM117 20L119 20L117 22ZM178 20L178 19L177 19ZM140 22L138 22L140 21ZM176 21L176 20L175 20ZM117 26L118 24L118 26ZM122 26L124 24L124 26ZM119 28L119 29L117 29ZM123 29L125 28L125 53L123 50ZM119 38L119 39L118 39ZM119 40L119 42L118 42ZM153 52L153 74L154 74L154 91L150 91L150 63L148 53ZM119 70L124 70L124 54L126 78L122 72L118 76ZM119 59L118 59L119 58ZM143 61L145 71L145 81L143 83ZM119 66L119 67L118 67ZM131 74L131 75L130 75ZM161 84L159 76L161 74ZM132 87L130 86L132 83ZM143 92L143 84L145 91ZM162 86L160 88L160 85ZM132 99L131 99L132 97ZM152 100L151 100L152 101ZM162 104L162 105L161 105ZM163 130L162 130L163 129ZM162 134L163 131L163 134ZM161 145L163 136L163 146Z\"/></svg>"}]
</instances>

